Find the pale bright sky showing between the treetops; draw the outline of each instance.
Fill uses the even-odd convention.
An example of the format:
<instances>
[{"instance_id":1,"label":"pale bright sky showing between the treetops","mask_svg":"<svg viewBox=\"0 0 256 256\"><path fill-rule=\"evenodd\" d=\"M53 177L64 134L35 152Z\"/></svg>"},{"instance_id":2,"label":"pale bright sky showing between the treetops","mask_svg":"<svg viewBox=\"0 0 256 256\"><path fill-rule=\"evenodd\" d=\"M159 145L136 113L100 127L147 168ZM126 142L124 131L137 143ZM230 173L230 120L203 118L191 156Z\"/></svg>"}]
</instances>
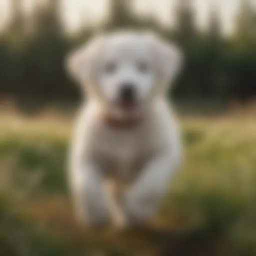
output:
<instances>
[{"instance_id":1,"label":"pale bright sky showing between the treetops","mask_svg":"<svg viewBox=\"0 0 256 256\"><path fill-rule=\"evenodd\" d=\"M41 2L45 0L40 0ZM153 13L163 24L173 23L171 15L175 9L176 0L133 0L134 10L139 15ZM207 27L207 16L212 8L216 6L219 9L220 17L223 23L223 31L231 33L233 31L234 20L239 2L241 0L194 0L196 11L196 21L200 28ZM251 0L256 6L256 0ZM0 27L4 27L10 18L9 11L10 0L0 0ZM29 13L34 4L34 0L23 0L24 10ZM95 23L106 17L106 8L108 0L62 0L61 15L63 21L69 29L75 30L83 23Z\"/></svg>"}]
</instances>

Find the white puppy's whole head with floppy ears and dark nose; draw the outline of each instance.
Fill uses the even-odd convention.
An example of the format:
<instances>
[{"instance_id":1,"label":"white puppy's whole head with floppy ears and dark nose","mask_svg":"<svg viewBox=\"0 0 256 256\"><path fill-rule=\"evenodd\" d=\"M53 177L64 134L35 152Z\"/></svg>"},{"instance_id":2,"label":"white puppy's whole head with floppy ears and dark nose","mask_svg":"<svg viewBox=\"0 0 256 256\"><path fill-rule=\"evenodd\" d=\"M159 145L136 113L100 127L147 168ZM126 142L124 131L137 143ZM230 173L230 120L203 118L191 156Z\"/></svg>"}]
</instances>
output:
<instances>
[{"instance_id":1,"label":"white puppy's whole head with floppy ears and dark nose","mask_svg":"<svg viewBox=\"0 0 256 256\"><path fill-rule=\"evenodd\" d=\"M115 32L93 38L68 58L72 75L110 111L141 112L164 93L180 70L180 51L144 32Z\"/></svg>"}]
</instances>

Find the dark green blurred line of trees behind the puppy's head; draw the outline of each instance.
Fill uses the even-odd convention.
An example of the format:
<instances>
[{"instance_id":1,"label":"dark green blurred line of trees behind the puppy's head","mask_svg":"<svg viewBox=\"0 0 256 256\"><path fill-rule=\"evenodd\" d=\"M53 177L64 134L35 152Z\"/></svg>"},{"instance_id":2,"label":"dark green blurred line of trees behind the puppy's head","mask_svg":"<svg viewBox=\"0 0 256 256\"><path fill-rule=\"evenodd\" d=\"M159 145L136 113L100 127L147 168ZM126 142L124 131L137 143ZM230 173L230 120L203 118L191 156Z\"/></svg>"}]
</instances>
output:
<instances>
[{"instance_id":1,"label":"dark green blurred line of trees behind the puppy's head","mask_svg":"<svg viewBox=\"0 0 256 256\"><path fill-rule=\"evenodd\" d=\"M79 88L68 77L64 59L71 48L86 41L93 28L69 35L59 18L60 0L35 7L27 26L20 0L11 0L12 20L0 35L0 98L17 102L76 101ZM201 32L189 0L179 0L176 26L163 27L152 17L140 18L128 0L112 0L111 15L101 29L152 28L184 51L185 66L172 95L177 99L216 99L247 102L256 96L256 13L243 0L236 31L223 36L218 9L212 7L209 27ZM173 14L172 14L173 15Z\"/></svg>"}]
</instances>

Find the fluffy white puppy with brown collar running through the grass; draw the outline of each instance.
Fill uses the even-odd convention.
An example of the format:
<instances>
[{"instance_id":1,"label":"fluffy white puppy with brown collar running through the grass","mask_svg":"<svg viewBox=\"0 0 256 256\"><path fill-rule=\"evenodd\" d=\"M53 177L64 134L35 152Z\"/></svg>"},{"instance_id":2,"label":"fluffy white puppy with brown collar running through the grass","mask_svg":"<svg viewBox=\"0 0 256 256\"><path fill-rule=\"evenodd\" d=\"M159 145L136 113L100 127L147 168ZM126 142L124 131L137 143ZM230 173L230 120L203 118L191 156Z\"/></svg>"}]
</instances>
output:
<instances>
[{"instance_id":1,"label":"fluffy white puppy with brown collar running through the grass","mask_svg":"<svg viewBox=\"0 0 256 256\"><path fill-rule=\"evenodd\" d=\"M123 226L156 213L181 158L176 121L164 97L181 54L147 32L102 34L68 58L86 89L71 147L77 215Z\"/></svg>"}]
</instances>

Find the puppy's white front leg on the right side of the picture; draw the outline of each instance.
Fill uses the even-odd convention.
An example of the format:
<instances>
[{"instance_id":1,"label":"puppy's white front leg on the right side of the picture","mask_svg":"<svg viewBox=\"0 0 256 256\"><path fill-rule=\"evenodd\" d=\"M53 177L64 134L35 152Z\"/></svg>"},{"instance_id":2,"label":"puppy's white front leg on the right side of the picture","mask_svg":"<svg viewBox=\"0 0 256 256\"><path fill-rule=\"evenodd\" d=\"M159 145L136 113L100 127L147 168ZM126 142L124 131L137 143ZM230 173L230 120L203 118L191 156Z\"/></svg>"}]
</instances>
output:
<instances>
[{"instance_id":1,"label":"puppy's white front leg on the right side of the picture","mask_svg":"<svg viewBox=\"0 0 256 256\"><path fill-rule=\"evenodd\" d=\"M147 162L126 194L125 207L131 222L146 221L157 212L177 163L177 155L171 151Z\"/></svg>"}]
</instances>

